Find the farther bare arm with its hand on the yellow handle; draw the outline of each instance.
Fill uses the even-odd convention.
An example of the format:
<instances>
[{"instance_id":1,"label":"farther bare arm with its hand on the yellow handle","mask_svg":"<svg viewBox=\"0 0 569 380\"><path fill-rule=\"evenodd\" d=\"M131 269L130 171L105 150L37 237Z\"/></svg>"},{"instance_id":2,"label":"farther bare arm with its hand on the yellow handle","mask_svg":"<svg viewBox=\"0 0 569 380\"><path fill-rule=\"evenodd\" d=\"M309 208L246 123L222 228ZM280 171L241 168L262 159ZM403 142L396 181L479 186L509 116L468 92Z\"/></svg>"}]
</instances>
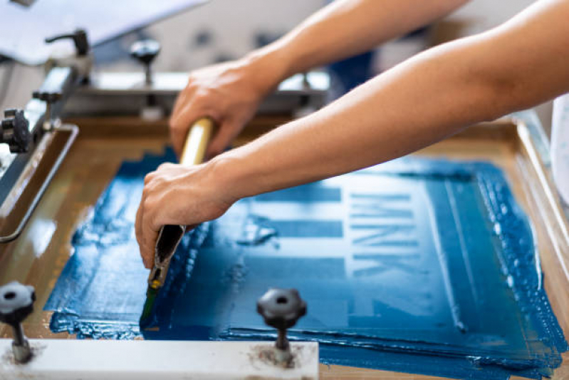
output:
<instances>
[{"instance_id":1,"label":"farther bare arm with its hand on the yellow handle","mask_svg":"<svg viewBox=\"0 0 569 380\"><path fill-rule=\"evenodd\" d=\"M207 115L220 127L207 155L221 153L283 79L367 51L466 1L336 0L283 38L239 61L194 71L172 112L174 149L181 152L189 125Z\"/></svg>"}]
</instances>

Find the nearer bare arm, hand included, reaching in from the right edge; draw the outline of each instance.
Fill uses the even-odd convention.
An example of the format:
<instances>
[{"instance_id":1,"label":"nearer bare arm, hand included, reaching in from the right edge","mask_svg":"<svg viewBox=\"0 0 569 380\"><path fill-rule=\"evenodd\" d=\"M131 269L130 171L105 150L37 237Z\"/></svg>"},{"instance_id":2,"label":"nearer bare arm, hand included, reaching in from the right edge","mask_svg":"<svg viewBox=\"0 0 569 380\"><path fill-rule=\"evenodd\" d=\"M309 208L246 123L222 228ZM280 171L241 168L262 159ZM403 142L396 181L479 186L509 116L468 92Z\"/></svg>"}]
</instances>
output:
<instances>
[{"instance_id":1,"label":"nearer bare arm, hand included, reaching in from the right edge","mask_svg":"<svg viewBox=\"0 0 569 380\"><path fill-rule=\"evenodd\" d=\"M143 257L160 225L209 220L241 197L381 163L569 91L568 16L569 1L538 1L496 29L420 53L210 163L150 174L137 222L137 234L149 239ZM179 178L169 182L172 173ZM165 199L178 207L163 207Z\"/></svg>"}]
</instances>

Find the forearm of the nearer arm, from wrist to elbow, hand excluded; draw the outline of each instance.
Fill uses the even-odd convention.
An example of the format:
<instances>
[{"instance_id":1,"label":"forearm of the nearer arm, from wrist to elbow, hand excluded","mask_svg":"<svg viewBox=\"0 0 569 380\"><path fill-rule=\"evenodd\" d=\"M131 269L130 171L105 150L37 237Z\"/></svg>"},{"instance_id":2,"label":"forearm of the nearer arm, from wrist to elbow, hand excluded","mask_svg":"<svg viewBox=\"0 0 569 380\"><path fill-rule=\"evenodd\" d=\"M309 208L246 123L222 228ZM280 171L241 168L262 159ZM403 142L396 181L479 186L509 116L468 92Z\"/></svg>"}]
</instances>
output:
<instances>
[{"instance_id":1,"label":"forearm of the nearer arm, from wrist to elbow, hand excluded","mask_svg":"<svg viewBox=\"0 0 569 380\"><path fill-rule=\"evenodd\" d=\"M382 163L441 140L460 125L493 118L484 89L466 86L454 67L450 57L417 57L226 153L219 158L223 173L234 176L237 197L247 197ZM474 107L485 114L474 115Z\"/></svg>"}]
</instances>

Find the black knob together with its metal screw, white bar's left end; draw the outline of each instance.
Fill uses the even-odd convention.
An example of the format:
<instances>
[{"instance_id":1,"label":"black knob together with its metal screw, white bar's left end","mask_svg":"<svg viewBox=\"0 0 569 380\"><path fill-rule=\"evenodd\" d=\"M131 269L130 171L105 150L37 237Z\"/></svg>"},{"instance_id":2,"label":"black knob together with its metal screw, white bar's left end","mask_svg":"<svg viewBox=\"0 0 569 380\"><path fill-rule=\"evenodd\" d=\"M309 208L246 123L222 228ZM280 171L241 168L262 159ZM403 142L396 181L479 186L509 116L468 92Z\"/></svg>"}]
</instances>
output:
<instances>
[{"instance_id":1,"label":"black knob together with its metal screw, white bar's left end","mask_svg":"<svg viewBox=\"0 0 569 380\"><path fill-rule=\"evenodd\" d=\"M12 351L18 363L26 363L32 356L21 323L33 312L34 301L36 293L31 286L14 281L0 287L0 322L9 324L12 328Z\"/></svg>"}]
</instances>

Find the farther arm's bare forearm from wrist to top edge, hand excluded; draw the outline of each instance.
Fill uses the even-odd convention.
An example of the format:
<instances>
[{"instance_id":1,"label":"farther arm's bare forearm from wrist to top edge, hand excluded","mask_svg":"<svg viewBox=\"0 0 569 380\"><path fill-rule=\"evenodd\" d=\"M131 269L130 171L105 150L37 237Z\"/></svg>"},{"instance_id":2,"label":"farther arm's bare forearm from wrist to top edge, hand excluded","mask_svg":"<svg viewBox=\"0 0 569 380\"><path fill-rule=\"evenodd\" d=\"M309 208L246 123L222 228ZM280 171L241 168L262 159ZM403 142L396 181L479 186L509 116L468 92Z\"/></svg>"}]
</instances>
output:
<instances>
[{"instance_id":1,"label":"farther arm's bare forearm from wrist to top edge, hand excluded","mask_svg":"<svg viewBox=\"0 0 569 380\"><path fill-rule=\"evenodd\" d=\"M442 17L468 0L336 0L248 57L279 80L354 56Z\"/></svg>"}]
</instances>

